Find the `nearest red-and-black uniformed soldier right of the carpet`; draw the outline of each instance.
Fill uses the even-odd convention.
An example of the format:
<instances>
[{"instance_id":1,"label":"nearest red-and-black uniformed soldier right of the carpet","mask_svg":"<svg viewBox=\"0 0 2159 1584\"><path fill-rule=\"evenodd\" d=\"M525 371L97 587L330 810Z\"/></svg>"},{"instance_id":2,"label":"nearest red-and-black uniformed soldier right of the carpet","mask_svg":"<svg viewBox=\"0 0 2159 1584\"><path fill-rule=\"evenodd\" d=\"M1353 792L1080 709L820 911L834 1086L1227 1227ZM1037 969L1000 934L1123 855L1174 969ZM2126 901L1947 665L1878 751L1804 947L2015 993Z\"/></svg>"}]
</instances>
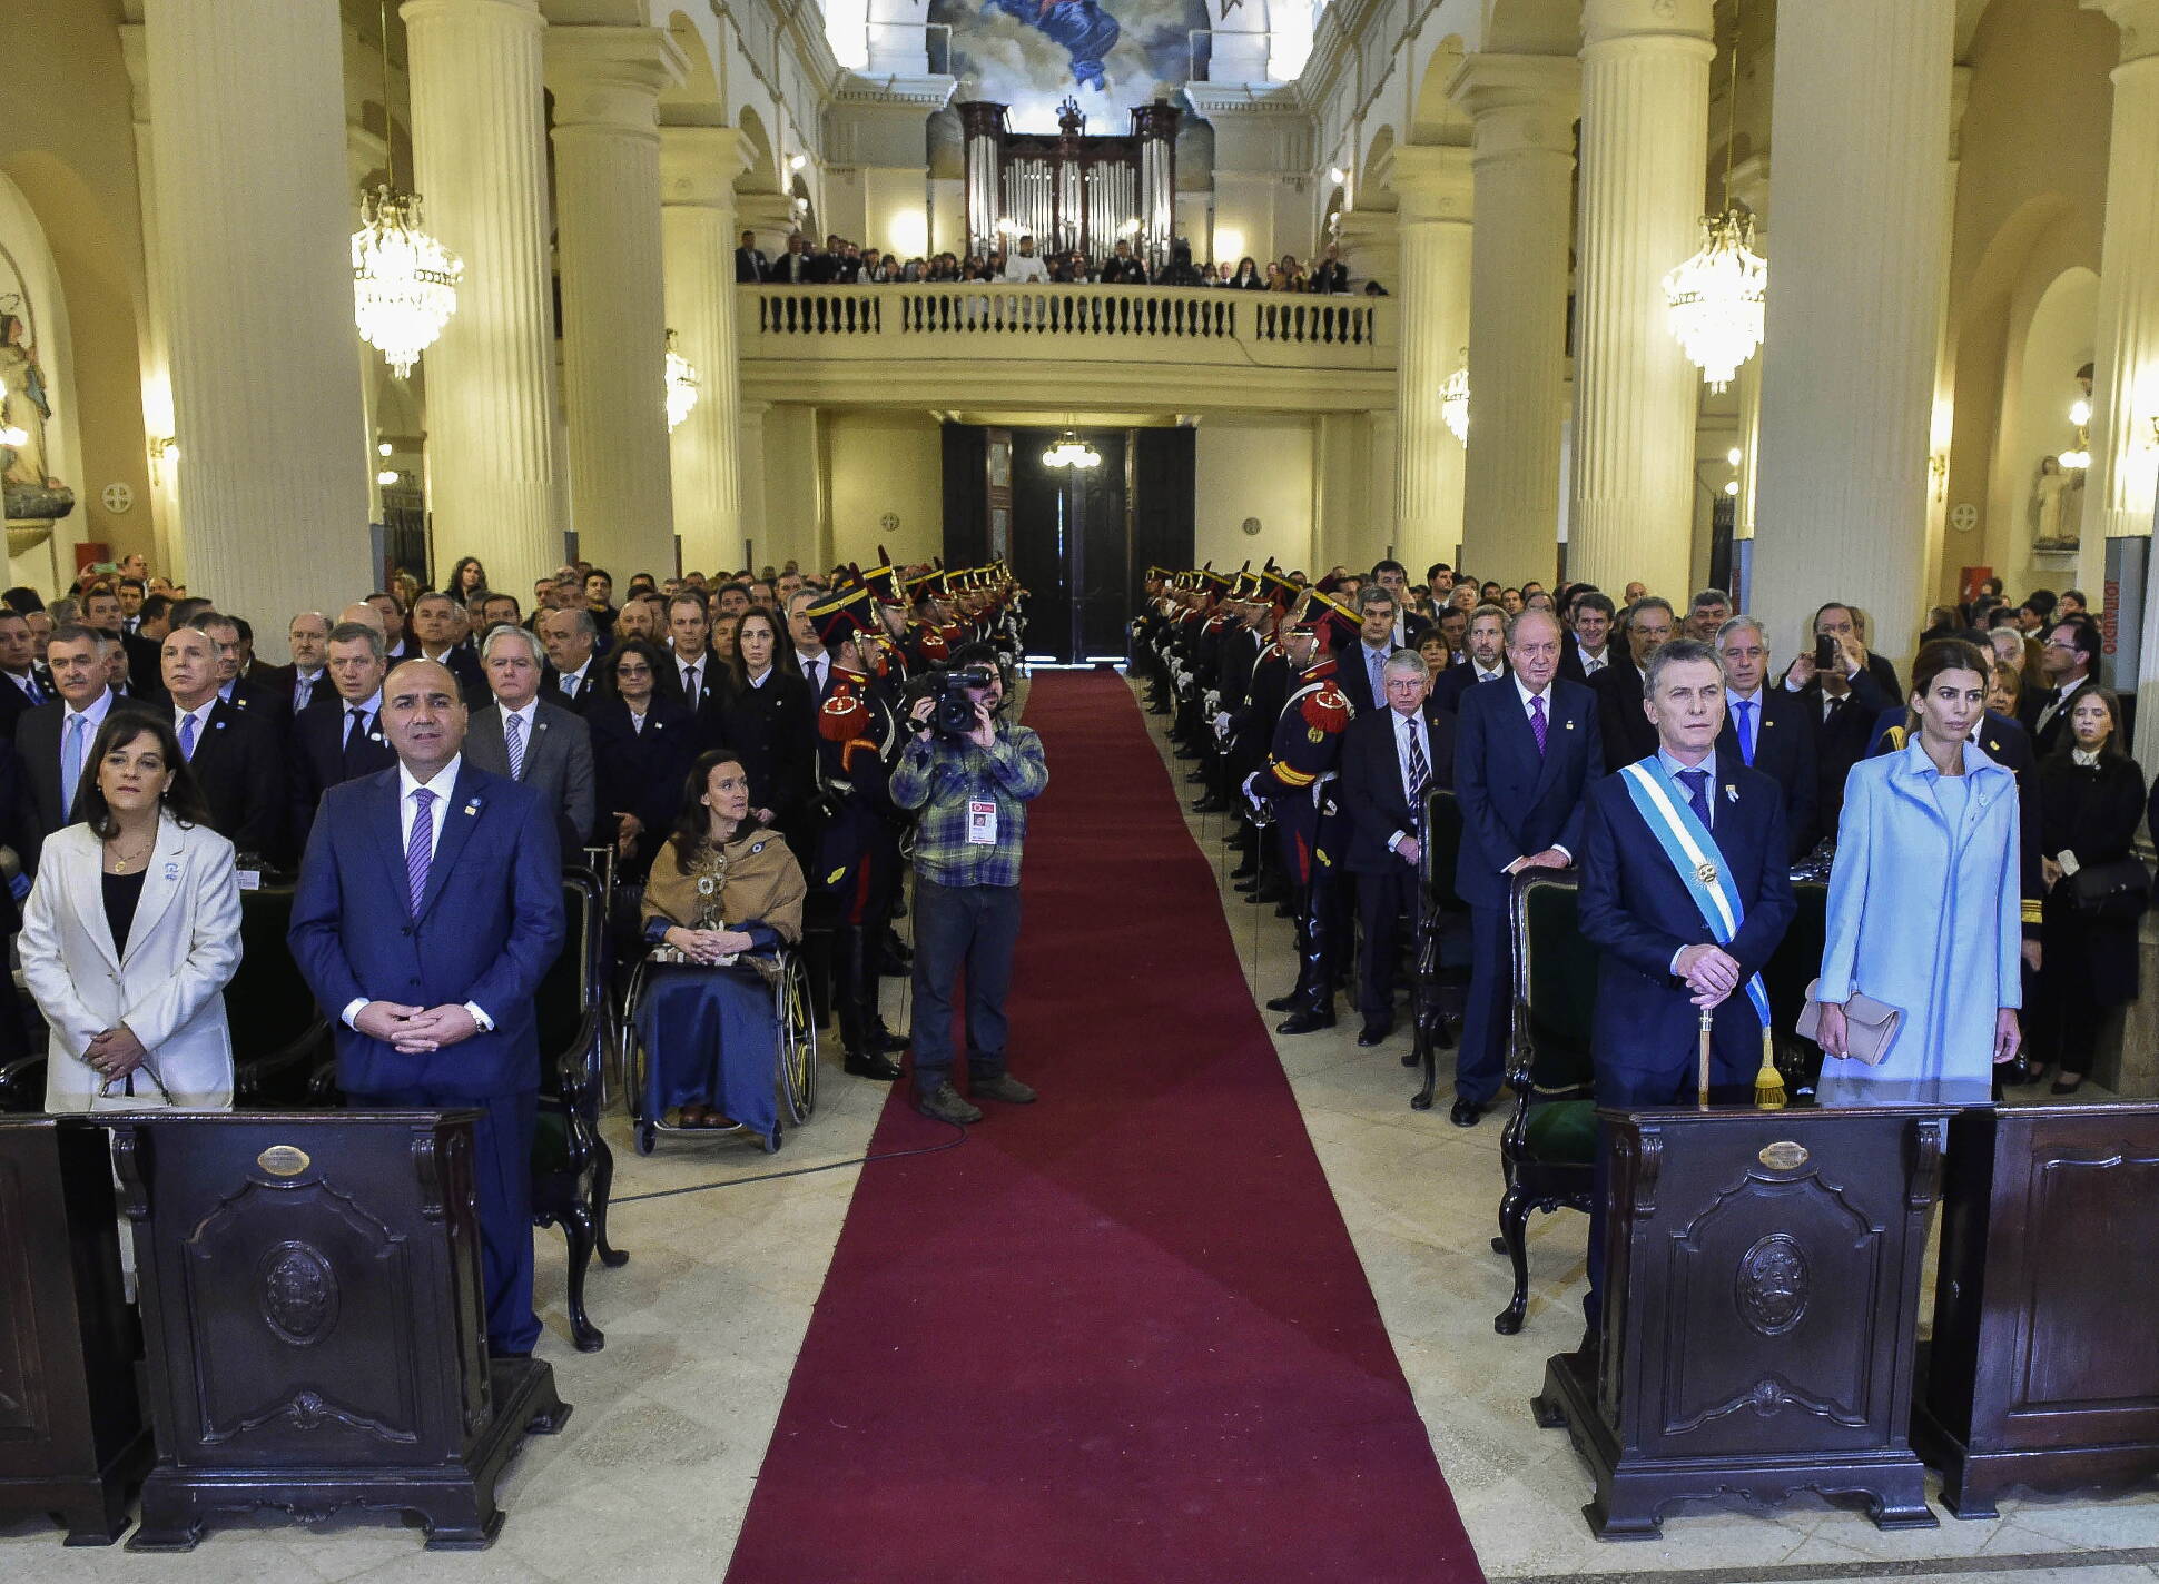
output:
<instances>
[{"instance_id":1,"label":"nearest red-and-black uniformed soldier right of the carpet","mask_svg":"<svg viewBox=\"0 0 2159 1584\"><path fill-rule=\"evenodd\" d=\"M1295 893L1298 986L1267 1003L1289 1012L1276 1023L1278 1034L1334 1027L1334 980L1349 945L1349 913L1336 868L1347 818L1332 783L1352 708L1334 682L1332 639L1347 641L1356 630L1356 617L1339 600L1317 589L1306 596L1304 619L1285 645L1298 675L1276 721L1274 747L1267 764L1244 781L1246 798L1274 816Z\"/></svg>"}]
</instances>

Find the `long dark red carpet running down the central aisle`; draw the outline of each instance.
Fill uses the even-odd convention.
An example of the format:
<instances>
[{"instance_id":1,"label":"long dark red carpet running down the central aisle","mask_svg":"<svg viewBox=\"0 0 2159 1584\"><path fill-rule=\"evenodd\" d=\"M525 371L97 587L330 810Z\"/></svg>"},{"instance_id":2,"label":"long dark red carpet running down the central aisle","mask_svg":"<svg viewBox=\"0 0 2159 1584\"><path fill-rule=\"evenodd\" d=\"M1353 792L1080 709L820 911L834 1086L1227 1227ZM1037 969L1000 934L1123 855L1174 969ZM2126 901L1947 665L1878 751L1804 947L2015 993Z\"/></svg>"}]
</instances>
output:
<instances>
[{"instance_id":1,"label":"long dark red carpet running down the central aisle","mask_svg":"<svg viewBox=\"0 0 2159 1584\"><path fill-rule=\"evenodd\" d=\"M1043 1101L864 1170L728 1578L1481 1580L1138 706L1028 723Z\"/></svg>"}]
</instances>

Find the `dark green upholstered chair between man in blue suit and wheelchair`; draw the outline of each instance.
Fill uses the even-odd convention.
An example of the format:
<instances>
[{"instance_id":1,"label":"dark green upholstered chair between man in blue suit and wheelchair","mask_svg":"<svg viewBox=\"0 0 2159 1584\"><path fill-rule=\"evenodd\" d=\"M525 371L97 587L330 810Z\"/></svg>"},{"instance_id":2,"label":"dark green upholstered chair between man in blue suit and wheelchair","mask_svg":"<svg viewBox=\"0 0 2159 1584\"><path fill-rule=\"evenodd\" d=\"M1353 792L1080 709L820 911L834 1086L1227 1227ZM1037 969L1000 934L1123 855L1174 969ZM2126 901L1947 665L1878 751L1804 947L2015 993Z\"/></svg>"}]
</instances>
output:
<instances>
[{"instance_id":1,"label":"dark green upholstered chair between man in blue suit and wheelchair","mask_svg":"<svg viewBox=\"0 0 2159 1584\"><path fill-rule=\"evenodd\" d=\"M600 1137L600 1064L607 1049L607 971L600 880L592 870L561 876L563 932L555 967L540 980L540 1116L533 1131L533 1226L559 1226L570 1243L570 1336L581 1353L607 1344L585 1314L585 1271L594 1252L607 1267L628 1254L607 1245L607 1200L615 1157Z\"/></svg>"}]
</instances>

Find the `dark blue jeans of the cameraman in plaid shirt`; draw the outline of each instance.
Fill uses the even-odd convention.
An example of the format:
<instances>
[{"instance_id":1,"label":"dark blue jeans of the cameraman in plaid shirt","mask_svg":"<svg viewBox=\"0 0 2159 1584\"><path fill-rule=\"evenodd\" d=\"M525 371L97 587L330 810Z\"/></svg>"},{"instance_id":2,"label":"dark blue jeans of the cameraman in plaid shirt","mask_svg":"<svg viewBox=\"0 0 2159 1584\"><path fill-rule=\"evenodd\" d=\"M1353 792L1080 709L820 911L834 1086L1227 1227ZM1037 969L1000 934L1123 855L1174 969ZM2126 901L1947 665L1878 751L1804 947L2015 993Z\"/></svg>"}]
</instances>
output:
<instances>
[{"instance_id":1,"label":"dark blue jeans of the cameraman in plaid shirt","mask_svg":"<svg viewBox=\"0 0 2159 1584\"><path fill-rule=\"evenodd\" d=\"M1017 885L939 885L915 876L915 1088L952 1077L952 1008L967 971L967 1073L1004 1073L1004 995L1019 943Z\"/></svg>"}]
</instances>

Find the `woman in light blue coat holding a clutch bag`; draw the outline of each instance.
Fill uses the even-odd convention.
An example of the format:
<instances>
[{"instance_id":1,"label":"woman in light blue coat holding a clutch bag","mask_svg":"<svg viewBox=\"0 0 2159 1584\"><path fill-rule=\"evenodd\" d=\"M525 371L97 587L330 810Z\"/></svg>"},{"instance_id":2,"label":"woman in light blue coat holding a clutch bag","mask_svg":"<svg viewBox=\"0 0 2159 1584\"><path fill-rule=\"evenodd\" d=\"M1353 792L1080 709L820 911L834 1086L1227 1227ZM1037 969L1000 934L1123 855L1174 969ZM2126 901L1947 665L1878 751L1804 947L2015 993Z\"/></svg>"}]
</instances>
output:
<instances>
[{"instance_id":1,"label":"woman in light blue coat holding a clutch bag","mask_svg":"<svg viewBox=\"0 0 2159 1584\"><path fill-rule=\"evenodd\" d=\"M1917 734L1852 766L1822 945L1822 1073L1831 1085L1950 1079L1984 1098L1991 1064L2017 1055L2023 1003L2017 777L1971 742L1988 667L1969 643L1919 650ZM1848 1055L1844 1001L1902 1010L1880 1066Z\"/></svg>"}]
</instances>

